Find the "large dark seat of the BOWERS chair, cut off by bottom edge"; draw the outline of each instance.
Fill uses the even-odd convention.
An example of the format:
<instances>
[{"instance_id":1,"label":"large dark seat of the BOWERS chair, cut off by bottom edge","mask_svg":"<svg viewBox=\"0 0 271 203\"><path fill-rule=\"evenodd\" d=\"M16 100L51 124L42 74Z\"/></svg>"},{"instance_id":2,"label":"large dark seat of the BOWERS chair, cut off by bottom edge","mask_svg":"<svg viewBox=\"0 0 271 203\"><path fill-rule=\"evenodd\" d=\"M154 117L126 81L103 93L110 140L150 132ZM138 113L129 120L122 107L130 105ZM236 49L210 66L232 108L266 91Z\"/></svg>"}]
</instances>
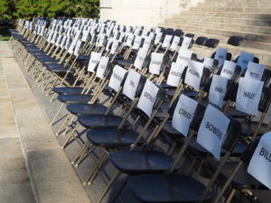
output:
<instances>
[{"instance_id":1,"label":"large dark seat of the BOWERS chair, cut off by bottom edge","mask_svg":"<svg viewBox=\"0 0 271 203\"><path fill-rule=\"evenodd\" d=\"M148 203L196 203L201 200L205 186L182 174L154 174L131 176L127 180L135 198ZM210 203L209 193L204 202Z\"/></svg>"}]
</instances>

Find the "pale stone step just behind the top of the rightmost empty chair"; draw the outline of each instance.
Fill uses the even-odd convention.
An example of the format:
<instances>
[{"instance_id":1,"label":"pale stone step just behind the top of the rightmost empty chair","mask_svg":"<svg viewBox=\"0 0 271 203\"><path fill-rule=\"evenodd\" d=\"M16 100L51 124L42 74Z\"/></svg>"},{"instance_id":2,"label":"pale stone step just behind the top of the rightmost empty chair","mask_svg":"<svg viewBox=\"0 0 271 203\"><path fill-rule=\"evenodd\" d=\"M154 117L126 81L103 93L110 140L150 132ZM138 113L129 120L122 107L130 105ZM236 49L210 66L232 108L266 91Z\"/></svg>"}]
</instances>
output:
<instances>
[{"instance_id":1,"label":"pale stone step just behind the top of the rightmost empty chair","mask_svg":"<svg viewBox=\"0 0 271 203\"><path fill-rule=\"evenodd\" d=\"M164 27L173 27L177 29L182 29L187 32L202 32L202 33L210 33L210 34L218 34L222 36L233 36L238 35L244 37L245 40L253 40L260 42L271 42L270 34L262 34L262 33L251 33L251 32L241 32L235 30L227 30L227 29L219 29L219 28L210 28L210 27L202 27L201 25L186 25L186 24L177 24L177 23L161 23L160 26Z\"/></svg>"}]
</instances>

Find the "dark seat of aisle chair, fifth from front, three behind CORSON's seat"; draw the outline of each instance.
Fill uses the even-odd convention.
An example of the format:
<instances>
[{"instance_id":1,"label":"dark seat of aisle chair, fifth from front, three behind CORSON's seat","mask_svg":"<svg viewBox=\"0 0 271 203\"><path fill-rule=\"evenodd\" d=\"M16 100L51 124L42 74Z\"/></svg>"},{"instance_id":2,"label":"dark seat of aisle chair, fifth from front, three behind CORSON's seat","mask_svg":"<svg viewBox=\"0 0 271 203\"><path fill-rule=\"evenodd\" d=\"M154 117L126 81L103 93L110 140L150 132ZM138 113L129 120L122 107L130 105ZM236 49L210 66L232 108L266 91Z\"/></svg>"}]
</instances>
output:
<instances>
[{"instance_id":1,"label":"dark seat of aisle chair, fifth from front, three behind CORSON's seat","mask_svg":"<svg viewBox=\"0 0 271 203\"><path fill-rule=\"evenodd\" d=\"M101 104L72 104L66 106L67 110L73 115L104 115L107 112L107 106Z\"/></svg>"}]
</instances>

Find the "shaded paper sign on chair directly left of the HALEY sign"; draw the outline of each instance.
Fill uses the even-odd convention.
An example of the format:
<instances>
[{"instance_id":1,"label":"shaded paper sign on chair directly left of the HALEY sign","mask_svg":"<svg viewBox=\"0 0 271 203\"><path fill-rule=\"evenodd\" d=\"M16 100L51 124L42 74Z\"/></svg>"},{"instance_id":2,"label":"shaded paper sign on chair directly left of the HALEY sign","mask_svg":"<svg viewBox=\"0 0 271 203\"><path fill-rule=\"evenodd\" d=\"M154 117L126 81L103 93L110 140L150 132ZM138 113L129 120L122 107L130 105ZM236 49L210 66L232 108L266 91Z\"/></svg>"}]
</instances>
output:
<instances>
[{"instance_id":1,"label":"shaded paper sign on chair directly left of the HALEY sign","mask_svg":"<svg viewBox=\"0 0 271 203\"><path fill-rule=\"evenodd\" d=\"M227 91L228 79L213 75L210 84L209 101L215 106L223 106L224 97Z\"/></svg>"}]
</instances>

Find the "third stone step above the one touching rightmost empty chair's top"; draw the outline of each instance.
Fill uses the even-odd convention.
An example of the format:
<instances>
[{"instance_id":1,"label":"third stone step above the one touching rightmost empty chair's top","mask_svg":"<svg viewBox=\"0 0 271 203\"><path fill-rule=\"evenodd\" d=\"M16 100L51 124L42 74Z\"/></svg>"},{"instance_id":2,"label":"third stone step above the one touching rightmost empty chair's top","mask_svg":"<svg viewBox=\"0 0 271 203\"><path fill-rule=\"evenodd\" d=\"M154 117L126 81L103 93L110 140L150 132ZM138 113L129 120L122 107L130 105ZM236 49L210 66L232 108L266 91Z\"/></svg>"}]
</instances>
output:
<instances>
[{"instance_id":1,"label":"third stone step above the one touching rightmost empty chair's top","mask_svg":"<svg viewBox=\"0 0 271 203\"><path fill-rule=\"evenodd\" d=\"M247 19L261 19L263 21L270 21L271 13L262 14L262 13L239 13L239 12L209 12L209 11L183 11L182 14L173 15L173 18L178 18L180 15L186 15L193 17L194 15L203 16L221 16L221 17L230 17L230 18L247 18Z\"/></svg>"}]
</instances>

